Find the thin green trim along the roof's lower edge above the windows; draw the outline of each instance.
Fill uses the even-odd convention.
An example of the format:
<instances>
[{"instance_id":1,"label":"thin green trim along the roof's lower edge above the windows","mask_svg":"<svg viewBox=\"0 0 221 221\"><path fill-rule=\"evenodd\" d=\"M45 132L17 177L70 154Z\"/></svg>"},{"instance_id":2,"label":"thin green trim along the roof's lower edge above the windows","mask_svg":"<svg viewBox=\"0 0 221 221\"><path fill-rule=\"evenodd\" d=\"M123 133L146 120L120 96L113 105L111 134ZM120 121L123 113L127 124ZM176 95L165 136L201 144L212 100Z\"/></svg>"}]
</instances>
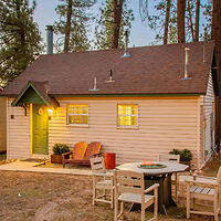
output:
<instances>
[{"instance_id":1,"label":"thin green trim along the roof's lower edge above the windows","mask_svg":"<svg viewBox=\"0 0 221 221\"><path fill-rule=\"evenodd\" d=\"M169 96L200 96L206 93L199 94L51 94L52 97L169 97Z\"/></svg>"}]
</instances>

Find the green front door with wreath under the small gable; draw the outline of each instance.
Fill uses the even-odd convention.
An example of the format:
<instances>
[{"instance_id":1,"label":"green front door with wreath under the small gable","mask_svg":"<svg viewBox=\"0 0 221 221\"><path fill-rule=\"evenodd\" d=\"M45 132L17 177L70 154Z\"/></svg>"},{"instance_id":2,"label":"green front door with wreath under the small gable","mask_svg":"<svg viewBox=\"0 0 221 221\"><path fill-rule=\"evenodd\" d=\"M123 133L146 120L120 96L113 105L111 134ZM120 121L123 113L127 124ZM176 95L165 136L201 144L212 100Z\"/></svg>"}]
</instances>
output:
<instances>
[{"instance_id":1,"label":"green front door with wreath under the small gable","mask_svg":"<svg viewBox=\"0 0 221 221\"><path fill-rule=\"evenodd\" d=\"M44 105L32 107L32 152L35 155L48 155L48 109Z\"/></svg>"}]
</instances>

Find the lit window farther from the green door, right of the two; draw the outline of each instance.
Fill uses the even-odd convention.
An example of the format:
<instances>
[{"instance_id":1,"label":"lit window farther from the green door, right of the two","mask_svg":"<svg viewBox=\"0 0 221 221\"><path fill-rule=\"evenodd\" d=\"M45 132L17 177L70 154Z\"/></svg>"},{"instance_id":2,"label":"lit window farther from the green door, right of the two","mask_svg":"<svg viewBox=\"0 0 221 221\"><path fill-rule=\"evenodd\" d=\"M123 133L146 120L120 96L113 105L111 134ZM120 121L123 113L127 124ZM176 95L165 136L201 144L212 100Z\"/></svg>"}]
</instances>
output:
<instances>
[{"instance_id":1,"label":"lit window farther from the green door, right of the two","mask_svg":"<svg viewBox=\"0 0 221 221\"><path fill-rule=\"evenodd\" d=\"M138 106L118 105L118 127L138 126Z\"/></svg>"}]
</instances>

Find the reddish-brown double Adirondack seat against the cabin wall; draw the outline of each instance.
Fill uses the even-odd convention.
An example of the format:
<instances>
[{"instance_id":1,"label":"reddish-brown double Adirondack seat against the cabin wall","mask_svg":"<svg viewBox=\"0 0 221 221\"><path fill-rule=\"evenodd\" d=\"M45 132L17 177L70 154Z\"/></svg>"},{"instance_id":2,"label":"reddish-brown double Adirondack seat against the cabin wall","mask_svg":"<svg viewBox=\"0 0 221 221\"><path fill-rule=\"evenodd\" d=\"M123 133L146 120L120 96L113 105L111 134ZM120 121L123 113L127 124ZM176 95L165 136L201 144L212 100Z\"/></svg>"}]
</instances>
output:
<instances>
[{"instance_id":1,"label":"reddish-brown double Adirondack seat against the cabin wall","mask_svg":"<svg viewBox=\"0 0 221 221\"><path fill-rule=\"evenodd\" d=\"M63 154L63 167L66 164L72 165L90 165L90 159L99 155L101 152L101 143L93 141L91 144L86 144L85 141L77 143L73 151ZM72 156L72 158L70 158Z\"/></svg>"}]
</instances>

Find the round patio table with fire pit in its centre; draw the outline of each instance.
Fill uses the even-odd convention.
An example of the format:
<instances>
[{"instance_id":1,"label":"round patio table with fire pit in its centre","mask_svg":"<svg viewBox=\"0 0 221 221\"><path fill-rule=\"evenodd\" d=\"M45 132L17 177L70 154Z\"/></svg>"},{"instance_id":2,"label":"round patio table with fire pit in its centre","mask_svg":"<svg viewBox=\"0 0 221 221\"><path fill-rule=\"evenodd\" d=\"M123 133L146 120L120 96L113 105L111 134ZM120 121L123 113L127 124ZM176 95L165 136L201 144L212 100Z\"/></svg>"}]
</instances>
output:
<instances>
[{"instance_id":1,"label":"round patio table with fire pit in its centre","mask_svg":"<svg viewBox=\"0 0 221 221\"><path fill-rule=\"evenodd\" d=\"M116 167L116 169L143 172L145 176L145 188L148 188L154 183L159 183L158 211L161 214L167 214L166 208L176 206L171 194L171 176L173 172L187 170L189 166L173 161L146 161L148 165L162 165L162 168L159 169L146 169L140 168L141 164L143 162L124 164ZM133 206L131 210L136 210L136 206Z\"/></svg>"}]
</instances>

